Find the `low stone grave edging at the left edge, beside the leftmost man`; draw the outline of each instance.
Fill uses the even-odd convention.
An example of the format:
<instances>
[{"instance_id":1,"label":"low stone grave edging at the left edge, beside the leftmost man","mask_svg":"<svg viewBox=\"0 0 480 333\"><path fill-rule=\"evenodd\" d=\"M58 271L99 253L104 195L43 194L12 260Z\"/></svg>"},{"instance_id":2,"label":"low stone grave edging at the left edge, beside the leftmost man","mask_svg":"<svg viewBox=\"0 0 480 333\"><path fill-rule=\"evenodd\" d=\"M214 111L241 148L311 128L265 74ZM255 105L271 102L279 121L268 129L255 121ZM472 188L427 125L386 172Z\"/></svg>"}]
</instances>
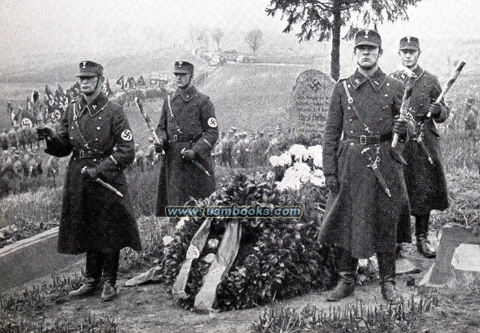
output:
<instances>
[{"instance_id":1,"label":"low stone grave edging at the left edge, beside the leftmost man","mask_svg":"<svg viewBox=\"0 0 480 333\"><path fill-rule=\"evenodd\" d=\"M58 227L0 249L0 292L83 258L59 254L57 239Z\"/></svg>"}]
</instances>

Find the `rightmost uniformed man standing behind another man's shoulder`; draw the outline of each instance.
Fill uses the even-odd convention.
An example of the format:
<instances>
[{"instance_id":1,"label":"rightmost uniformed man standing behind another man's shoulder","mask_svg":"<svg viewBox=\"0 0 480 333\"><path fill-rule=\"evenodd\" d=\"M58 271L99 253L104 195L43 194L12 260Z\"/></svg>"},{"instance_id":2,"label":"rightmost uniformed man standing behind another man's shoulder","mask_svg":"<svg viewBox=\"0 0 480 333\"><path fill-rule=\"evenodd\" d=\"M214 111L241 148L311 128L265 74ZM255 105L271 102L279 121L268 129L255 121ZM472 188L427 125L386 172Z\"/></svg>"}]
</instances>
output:
<instances>
[{"instance_id":1,"label":"rightmost uniformed man standing behind another man's shoulder","mask_svg":"<svg viewBox=\"0 0 480 333\"><path fill-rule=\"evenodd\" d=\"M409 112L417 122L413 140L405 144L403 156L407 161L405 182L410 201L410 212L415 217L415 236L417 249L427 258L435 257L435 250L430 246L429 220L431 210L448 208L446 177L440 149L440 134L435 123L443 123L448 118L450 109L437 97L442 92L440 82L435 75L418 66L420 56L418 38L407 36L400 39L398 54L403 66L416 77L411 93ZM392 77L407 81L407 75L401 71L391 74ZM431 116L427 118L427 114ZM403 230L398 230L403 232Z\"/></svg>"}]
</instances>

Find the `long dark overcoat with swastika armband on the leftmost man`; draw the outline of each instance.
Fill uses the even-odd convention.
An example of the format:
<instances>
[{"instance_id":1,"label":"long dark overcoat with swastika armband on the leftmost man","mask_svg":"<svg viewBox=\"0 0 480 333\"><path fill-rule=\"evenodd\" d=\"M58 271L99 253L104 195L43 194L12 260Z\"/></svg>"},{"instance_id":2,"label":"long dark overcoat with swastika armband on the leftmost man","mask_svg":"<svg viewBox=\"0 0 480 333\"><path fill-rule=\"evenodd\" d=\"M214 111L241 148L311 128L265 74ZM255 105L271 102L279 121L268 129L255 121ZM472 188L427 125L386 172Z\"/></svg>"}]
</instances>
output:
<instances>
[{"instance_id":1,"label":"long dark overcoat with swastika armband on the leftmost man","mask_svg":"<svg viewBox=\"0 0 480 333\"><path fill-rule=\"evenodd\" d=\"M134 140L121 106L104 93L88 105L84 99L71 103L55 136L47 140L45 152L58 157L72 153L63 189L58 251L141 250L123 173L134 160ZM117 188L123 197L83 177L85 166L97 166L101 180Z\"/></svg>"}]
</instances>

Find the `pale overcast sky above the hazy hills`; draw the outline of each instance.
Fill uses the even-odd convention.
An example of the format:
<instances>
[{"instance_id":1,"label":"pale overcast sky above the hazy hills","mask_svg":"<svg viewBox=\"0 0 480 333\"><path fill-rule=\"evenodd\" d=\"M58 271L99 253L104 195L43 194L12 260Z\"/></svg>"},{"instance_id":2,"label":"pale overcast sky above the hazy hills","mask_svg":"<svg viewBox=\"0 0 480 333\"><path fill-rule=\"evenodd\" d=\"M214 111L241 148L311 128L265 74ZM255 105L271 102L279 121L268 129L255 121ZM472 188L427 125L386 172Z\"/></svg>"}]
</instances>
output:
<instances>
[{"instance_id":1,"label":"pale overcast sky above the hazy hills","mask_svg":"<svg viewBox=\"0 0 480 333\"><path fill-rule=\"evenodd\" d=\"M6 58L82 49L108 53L156 49L162 42L187 40L191 26L243 33L259 28L278 34L285 27L279 16L265 14L267 0L0 0L0 4L0 57ZM421 40L478 39L478 6L475 0L423 0L409 10L409 22L386 24L379 30L384 39L394 40L409 34ZM293 34L288 38L295 39Z\"/></svg>"}]
</instances>

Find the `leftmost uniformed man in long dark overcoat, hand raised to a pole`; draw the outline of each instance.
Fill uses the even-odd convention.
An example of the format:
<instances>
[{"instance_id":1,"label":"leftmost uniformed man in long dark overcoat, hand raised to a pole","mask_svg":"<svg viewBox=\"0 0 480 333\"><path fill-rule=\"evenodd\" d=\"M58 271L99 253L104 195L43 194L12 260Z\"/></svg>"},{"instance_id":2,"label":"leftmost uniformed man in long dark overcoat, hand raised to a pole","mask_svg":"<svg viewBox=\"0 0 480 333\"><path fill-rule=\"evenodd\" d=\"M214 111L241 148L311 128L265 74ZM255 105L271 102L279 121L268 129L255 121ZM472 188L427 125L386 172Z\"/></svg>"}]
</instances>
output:
<instances>
[{"instance_id":1,"label":"leftmost uniformed man in long dark overcoat, hand raised to a pole","mask_svg":"<svg viewBox=\"0 0 480 333\"><path fill-rule=\"evenodd\" d=\"M123 247L141 250L128 185L123 170L135 156L128 119L119 104L101 92L104 69L91 61L80 62L77 75L82 91L60 121L58 131L39 128L38 139L47 141L46 153L69 156L64 182L58 251L86 252L84 284L71 297L92 295L101 286L101 299L117 296L115 283ZM116 188L123 197L99 184Z\"/></svg>"}]
</instances>

